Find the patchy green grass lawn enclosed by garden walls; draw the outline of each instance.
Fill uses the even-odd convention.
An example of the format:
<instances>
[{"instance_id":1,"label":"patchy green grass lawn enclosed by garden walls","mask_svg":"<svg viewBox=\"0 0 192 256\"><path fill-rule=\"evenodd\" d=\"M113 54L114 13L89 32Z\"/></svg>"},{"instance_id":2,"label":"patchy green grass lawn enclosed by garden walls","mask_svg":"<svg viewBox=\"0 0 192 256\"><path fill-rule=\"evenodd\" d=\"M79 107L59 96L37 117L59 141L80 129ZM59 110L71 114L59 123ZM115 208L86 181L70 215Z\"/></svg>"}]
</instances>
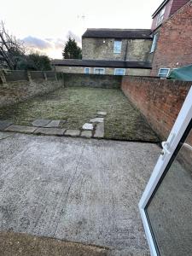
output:
<instances>
[{"instance_id":1,"label":"patchy green grass lawn enclosed by garden walls","mask_svg":"<svg viewBox=\"0 0 192 256\"><path fill-rule=\"evenodd\" d=\"M66 119L67 129L80 129L106 111L105 137L131 141L159 142L143 115L131 105L121 90L100 88L61 88L9 108L0 108L0 119L14 125L32 125L34 119Z\"/></svg>"}]
</instances>

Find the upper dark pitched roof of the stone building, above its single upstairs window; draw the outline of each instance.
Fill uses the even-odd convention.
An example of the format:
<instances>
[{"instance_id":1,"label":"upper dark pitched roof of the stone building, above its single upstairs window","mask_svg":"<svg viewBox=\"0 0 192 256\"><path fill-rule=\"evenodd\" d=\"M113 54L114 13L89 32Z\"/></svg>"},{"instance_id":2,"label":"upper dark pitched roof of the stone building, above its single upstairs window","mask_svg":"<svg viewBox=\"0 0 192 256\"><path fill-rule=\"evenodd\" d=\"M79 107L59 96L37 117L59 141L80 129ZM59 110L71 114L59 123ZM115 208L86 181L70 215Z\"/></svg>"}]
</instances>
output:
<instances>
[{"instance_id":1,"label":"upper dark pitched roof of the stone building, above its single upstairs window","mask_svg":"<svg viewBox=\"0 0 192 256\"><path fill-rule=\"evenodd\" d=\"M150 29L88 28L82 38L152 39Z\"/></svg>"}]
</instances>

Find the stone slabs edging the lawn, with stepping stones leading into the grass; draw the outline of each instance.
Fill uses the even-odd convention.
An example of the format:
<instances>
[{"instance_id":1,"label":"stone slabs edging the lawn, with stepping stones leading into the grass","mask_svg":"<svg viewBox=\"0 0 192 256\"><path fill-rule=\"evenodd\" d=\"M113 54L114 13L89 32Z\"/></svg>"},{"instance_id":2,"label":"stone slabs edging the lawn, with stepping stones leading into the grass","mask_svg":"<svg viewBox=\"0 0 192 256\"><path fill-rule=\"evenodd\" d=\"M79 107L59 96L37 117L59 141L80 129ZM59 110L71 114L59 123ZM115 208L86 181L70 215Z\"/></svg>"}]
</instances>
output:
<instances>
[{"instance_id":1,"label":"stone slabs edging the lawn, with stepping stones leading into the grass","mask_svg":"<svg viewBox=\"0 0 192 256\"><path fill-rule=\"evenodd\" d=\"M104 137L104 116L107 112L98 111L96 117L90 119L90 123L85 123L80 130L66 130L59 128L64 124L65 120L49 120L36 119L32 122L32 126L12 125L8 120L0 120L0 131L15 131L23 133L56 135L56 136L71 136L71 137Z\"/></svg>"}]
</instances>

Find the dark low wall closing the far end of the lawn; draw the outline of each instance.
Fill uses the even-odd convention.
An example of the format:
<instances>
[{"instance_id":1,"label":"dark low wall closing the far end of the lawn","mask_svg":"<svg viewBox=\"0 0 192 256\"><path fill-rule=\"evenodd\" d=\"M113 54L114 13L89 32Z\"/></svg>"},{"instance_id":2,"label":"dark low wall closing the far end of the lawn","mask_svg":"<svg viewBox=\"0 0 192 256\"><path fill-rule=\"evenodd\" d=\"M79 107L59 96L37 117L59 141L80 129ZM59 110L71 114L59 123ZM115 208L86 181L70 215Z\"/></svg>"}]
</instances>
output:
<instances>
[{"instance_id":1,"label":"dark low wall closing the far end of the lawn","mask_svg":"<svg viewBox=\"0 0 192 256\"><path fill-rule=\"evenodd\" d=\"M120 88L121 76L63 73L65 87Z\"/></svg>"}]
</instances>

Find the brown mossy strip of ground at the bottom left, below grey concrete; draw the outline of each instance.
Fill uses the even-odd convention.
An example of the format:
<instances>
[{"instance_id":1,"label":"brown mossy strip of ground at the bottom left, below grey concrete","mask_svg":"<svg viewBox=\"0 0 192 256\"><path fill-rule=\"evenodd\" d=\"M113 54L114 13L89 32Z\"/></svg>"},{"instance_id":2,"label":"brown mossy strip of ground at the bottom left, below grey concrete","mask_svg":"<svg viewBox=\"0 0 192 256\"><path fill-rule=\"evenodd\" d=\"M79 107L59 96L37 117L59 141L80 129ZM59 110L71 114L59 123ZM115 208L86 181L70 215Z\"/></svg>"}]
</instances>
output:
<instances>
[{"instance_id":1,"label":"brown mossy strip of ground at the bottom left, below grey concrete","mask_svg":"<svg viewBox=\"0 0 192 256\"><path fill-rule=\"evenodd\" d=\"M0 233L1 256L107 256L108 248L14 232Z\"/></svg>"}]
</instances>

